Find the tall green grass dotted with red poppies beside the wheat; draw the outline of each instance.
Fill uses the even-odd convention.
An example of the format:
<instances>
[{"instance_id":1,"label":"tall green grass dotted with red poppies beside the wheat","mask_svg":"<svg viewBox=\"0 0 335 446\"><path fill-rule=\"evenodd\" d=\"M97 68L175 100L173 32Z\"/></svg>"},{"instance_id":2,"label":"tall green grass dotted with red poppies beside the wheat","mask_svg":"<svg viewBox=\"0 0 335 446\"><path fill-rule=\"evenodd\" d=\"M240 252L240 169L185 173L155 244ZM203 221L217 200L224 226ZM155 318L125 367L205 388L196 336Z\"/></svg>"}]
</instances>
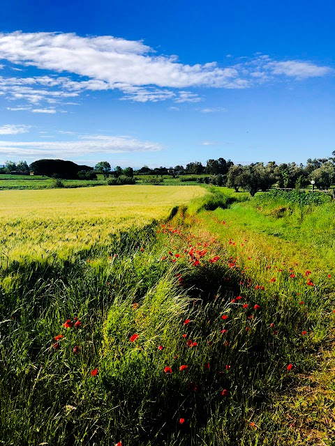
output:
<instances>
[{"instance_id":1,"label":"tall green grass dotted with red poppies beside the wheat","mask_svg":"<svg viewBox=\"0 0 335 446\"><path fill-rule=\"evenodd\" d=\"M334 328L332 270L260 235L284 218L265 206L206 200L71 261L2 263L4 445L313 444L287 394Z\"/></svg>"}]
</instances>

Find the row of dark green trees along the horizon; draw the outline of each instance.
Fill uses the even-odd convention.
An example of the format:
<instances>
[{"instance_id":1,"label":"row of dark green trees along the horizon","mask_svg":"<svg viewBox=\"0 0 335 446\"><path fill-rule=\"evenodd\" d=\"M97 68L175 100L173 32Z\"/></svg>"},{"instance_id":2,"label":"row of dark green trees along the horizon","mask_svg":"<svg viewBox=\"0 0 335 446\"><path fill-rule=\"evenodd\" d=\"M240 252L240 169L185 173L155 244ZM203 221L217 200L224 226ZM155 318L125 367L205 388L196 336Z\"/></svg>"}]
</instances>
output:
<instances>
[{"instance_id":1,"label":"row of dark green trees along the horizon","mask_svg":"<svg viewBox=\"0 0 335 446\"><path fill-rule=\"evenodd\" d=\"M205 166L196 161L186 164L186 167L177 165L170 168L150 169L144 166L136 170L132 167L122 169L117 166L112 170L107 161L98 162L94 168L64 160L37 160L30 165L26 161L17 163L8 161L0 169L0 174L19 174L31 171L34 171L34 174L52 176L53 178L80 179L96 179L98 173L103 174L105 179L110 176L133 178L134 175L156 177L169 175L176 178L184 175L201 175L198 178L199 183L227 185L234 187L236 191L241 187L254 195L258 190L267 190L274 184L277 187L301 188L306 187L311 180L314 180L315 185L320 189L331 187L335 184L335 151L332 152L332 157L314 158L313 160L310 158L305 165L295 162L276 164L275 161L271 161L267 164L256 162L243 166L220 157L218 160L207 160Z\"/></svg>"}]
</instances>

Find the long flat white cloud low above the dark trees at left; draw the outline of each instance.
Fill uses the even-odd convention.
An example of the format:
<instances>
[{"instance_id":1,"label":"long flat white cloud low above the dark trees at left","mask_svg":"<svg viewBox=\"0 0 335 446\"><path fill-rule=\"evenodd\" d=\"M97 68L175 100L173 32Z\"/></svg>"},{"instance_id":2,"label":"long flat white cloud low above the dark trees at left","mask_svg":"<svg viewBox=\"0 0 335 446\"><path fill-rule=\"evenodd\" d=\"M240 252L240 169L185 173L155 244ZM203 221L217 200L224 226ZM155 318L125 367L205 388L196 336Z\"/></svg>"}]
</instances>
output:
<instances>
[{"instance_id":1,"label":"long flat white cloud low above the dark trees at left","mask_svg":"<svg viewBox=\"0 0 335 446\"><path fill-rule=\"evenodd\" d=\"M82 136L75 141L0 141L0 153L11 157L75 157L76 155L101 153L161 151L161 144L140 141L131 137L105 135Z\"/></svg>"}]
</instances>

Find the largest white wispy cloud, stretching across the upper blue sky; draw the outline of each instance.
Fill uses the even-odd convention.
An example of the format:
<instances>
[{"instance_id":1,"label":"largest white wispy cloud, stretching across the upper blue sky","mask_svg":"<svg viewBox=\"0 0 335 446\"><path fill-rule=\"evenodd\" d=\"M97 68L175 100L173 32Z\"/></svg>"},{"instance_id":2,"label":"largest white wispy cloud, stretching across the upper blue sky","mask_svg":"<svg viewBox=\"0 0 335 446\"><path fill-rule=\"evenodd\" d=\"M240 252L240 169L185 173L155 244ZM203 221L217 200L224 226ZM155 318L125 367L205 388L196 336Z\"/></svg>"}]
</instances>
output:
<instances>
[{"instance_id":1,"label":"largest white wispy cloud, stretching across the upper blue sky","mask_svg":"<svg viewBox=\"0 0 335 446\"><path fill-rule=\"evenodd\" d=\"M228 55L230 56L230 55ZM142 41L75 33L0 33L0 59L20 66L67 75L0 77L0 92L10 100L57 104L83 91L121 91L123 100L199 102L195 87L246 89L274 79L302 80L334 72L311 61L276 61L267 54L239 63L181 63L157 54ZM22 68L15 67L15 70ZM23 76L23 75L22 75Z\"/></svg>"}]
</instances>

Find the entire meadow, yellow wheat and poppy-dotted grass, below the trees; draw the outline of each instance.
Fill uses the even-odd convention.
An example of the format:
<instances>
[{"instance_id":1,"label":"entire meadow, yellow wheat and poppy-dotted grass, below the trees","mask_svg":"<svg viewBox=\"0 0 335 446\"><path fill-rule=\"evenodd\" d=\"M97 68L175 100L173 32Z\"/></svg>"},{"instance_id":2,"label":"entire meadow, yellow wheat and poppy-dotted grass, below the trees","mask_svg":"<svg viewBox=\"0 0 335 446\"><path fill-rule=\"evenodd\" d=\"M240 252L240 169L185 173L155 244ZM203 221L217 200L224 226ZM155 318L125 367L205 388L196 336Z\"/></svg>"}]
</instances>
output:
<instances>
[{"instance_id":1,"label":"entire meadow, yellow wheat and poppy-dotted grass, below the trees","mask_svg":"<svg viewBox=\"0 0 335 446\"><path fill-rule=\"evenodd\" d=\"M334 444L334 202L1 194L0 444Z\"/></svg>"}]
</instances>

